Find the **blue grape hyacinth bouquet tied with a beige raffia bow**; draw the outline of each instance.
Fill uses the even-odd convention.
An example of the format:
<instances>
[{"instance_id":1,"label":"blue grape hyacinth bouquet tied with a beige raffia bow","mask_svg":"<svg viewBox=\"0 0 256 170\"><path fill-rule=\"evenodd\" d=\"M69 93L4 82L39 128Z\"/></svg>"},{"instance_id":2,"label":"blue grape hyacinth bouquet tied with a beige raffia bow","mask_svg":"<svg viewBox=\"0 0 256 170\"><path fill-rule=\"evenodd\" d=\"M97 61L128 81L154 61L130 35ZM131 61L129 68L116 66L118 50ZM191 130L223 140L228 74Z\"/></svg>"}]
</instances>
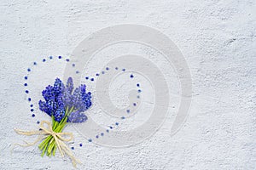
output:
<instances>
[{"instance_id":1,"label":"blue grape hyacinth bouquet tied with a beige raffia bow","mask_svg":"<svg viewBox=\"0 0 256 170\"><path fill-rule=\"evenodd\" d=\"M15 132L19 134L39 135L38 140L32 144L26 142L26 145L19 145L30 146L43 140L38 145L39 149L42 150L41 156L45 154L55 156L55 151L58 149L61 156L67 154L71 158L75 167L79 160L75 159L72 151L65 144L65 142L73 139L73 134L62 131L68 123L81 123L87 120L84 111L87 111L91 106L91 93L86 93L85 84L73 89L73 79L69 77L66 85L61 82L61 79L56 78L54 85L46 87L42 95L44 100L39 100L39 109L51 116L52 122L40 122L39 131L15 129ZM65 138L65 136L69 136L69 138Z\"/></svg>"}]
</instances>

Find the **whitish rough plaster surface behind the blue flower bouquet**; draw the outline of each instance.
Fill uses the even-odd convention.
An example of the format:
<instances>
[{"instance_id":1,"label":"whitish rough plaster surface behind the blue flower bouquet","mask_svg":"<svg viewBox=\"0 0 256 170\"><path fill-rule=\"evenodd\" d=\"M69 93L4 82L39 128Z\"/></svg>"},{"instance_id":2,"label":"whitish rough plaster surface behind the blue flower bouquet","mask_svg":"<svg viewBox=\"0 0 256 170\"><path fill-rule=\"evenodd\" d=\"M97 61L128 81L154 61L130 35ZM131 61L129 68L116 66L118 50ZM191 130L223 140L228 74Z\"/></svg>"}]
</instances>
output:
<instances>
[{"instance_id":1,"label":"whitish rough plaster surface behind the blue flower bouquet","mask_svg":"<svg viewBox=\"0 0 256 170\"><path fill-rule=\"evenodd\" d=\"M67 78L69 74L83 77L94 97L84 127L80 124L65 128L74 135L68 146L82 161L78 169L256 169L255 1L2 0L0 12L0 169L73 169L68 157L41 157L37 145L15 146L11 152L13 144L36 139L16 134L15 127L37 129L38 121L50 120L38 109L41 91L55 77ZM97 45L126 35L111 29L98 37L94 34L116 25L145 26L160 34L136 34L139 31L132 31L132 27L125 31L134 39L152 42L153 47L140 42L116 42L98 50L86 65L84 58L75 58L81 54L79 45L84 40L89 42L82 43L83 48L88 48L83 53L90 54L90 47L98 49L101 47ZM94 38L101 41L90 43ZM167 44L169 39L172 47ZM170 50L171 64L166 53L156 47ZM126 58L119 59L122 55ZM70 64L76 63L74 68L79 68L79 74L71 73L72 66L66 67L67 58ZM103 75L106 65L110 65L109 71ZM137 71L131 71L133 66ZM111 72L115 67L120 74ZM27 68L32 68L27 88L31 90L34 111L25 94ZM124 68L123 74L120 69ZM102 82L96 79L96 72L101 73L98 78L105 77ZM95 76L93 81L84 79L90 75ZM142 90L140 99L136 97L137 88ZM179 108L183 98L191 104ZM156 104L159 107L154 112ZM129 105L137 106L137 110L126 111ZM172 133L181 110L185 112L178 119L178 131ZM108 128L122 111L131 116L114 124L116 129L109 129L109 135L114 130L117 133L99 133L96 138L100 127L88 130L94 125ZM152 112L155 120L149 119ZM145 131L133 131L148 120ZM122 130L130 133L119 135Z\"/></svg>"}]
</instances>

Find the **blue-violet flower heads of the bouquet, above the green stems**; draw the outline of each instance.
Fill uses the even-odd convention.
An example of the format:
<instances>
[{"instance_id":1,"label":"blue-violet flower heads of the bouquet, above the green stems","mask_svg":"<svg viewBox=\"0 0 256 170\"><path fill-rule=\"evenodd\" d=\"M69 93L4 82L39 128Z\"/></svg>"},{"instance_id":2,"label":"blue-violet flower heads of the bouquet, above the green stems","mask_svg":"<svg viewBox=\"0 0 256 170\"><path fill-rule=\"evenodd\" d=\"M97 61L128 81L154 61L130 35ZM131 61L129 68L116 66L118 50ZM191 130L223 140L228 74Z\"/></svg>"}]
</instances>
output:
<instances>
[{"instance_id":1,"label":"blue-violet flower heads of the bouquet, above the green stems","mask_svg":"<svg viewBox=\"0 0 256 170\"><path fill-rule=\"evenodd\" d=\"M91 106L91 94L86 93L86 86L80 85L73 90L73 79L69 77L66 86L59 78L55 79L54 86L48 86L42 92L45 101L39 101L39 109L56 122L67 117L67 122L85 122L87 116L83 114Z\"/></svg>"}]
</instances>

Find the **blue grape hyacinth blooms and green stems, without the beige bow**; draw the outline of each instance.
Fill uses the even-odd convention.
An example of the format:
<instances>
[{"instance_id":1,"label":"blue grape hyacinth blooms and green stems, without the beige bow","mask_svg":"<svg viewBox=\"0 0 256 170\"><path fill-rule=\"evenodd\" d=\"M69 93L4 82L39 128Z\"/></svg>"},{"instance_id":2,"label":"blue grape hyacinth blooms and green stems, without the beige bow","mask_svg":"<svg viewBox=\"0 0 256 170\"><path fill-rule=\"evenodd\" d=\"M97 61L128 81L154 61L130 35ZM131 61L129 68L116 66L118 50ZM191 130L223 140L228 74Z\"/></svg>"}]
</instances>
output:
<instances>
[{"instance_id":1,"label":"blue grape hyacinth blooms and green stems, without the beige bow","mask_svg":"<svg viewBox=\"0 0 256 170\"><path fill-rule=\"evenodd\" d=\"M87 120L84 111L91 106L91 93L86 93L85 84L73 90L72 77L67 79L66 86L61 79L56 78L54 86L46 87L42 95L44 101L39 100L39 109L52 117L52 130L55 133L61 133L68 122L80 123ZM55 156L56 148L57 144L52 135L39 144L42 156L45 151L47 156Z\"/></svg>"}]
</instances>

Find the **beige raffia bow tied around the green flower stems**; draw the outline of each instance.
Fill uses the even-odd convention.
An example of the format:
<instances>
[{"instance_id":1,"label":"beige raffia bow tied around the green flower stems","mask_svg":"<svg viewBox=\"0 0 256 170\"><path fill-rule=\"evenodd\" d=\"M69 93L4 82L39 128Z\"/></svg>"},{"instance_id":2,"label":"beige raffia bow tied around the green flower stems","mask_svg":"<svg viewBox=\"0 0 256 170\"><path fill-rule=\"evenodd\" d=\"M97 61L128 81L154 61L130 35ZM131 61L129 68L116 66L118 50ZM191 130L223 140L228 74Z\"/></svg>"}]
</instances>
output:
<instances>
[{"instance_id":1,"label":"beige raffia bow tied around the green flower stems","mask_svg":"<svg viewBox=\"0 0 256 170\"><path fill-rule=\"evenodd\" d=\"M48 127L44 127L44 124L48 125ZM73 156L73 153L67 147L67 144L64 143L64 142L69 142L69 141L73 140L73 133L55 133L52 130L51 123L48 121L40 122L39 128L42 130L40 130L40 131L24 131L24 130L20 130L20 129L15 129L15 132L18 134L23 134L26 136L39 135L38 139L36 141L34 141L33 143L28 143L28 142L24 141L26 144L16 144L16 145L20 145L21 147L32 146L32 145L38 143L38 141L47 138L49 135L52 135L53 138L55 139L57 148L60 150L62 157L65 156L65 154L67 154L67 156L69 156L70 159L72 160L74 167L77 166L77 163L81 163L81 161L79 161L78 159L76 159ZM64 138L63 136L68 136L69 138Z\"/></svg>"}]
</instances>

